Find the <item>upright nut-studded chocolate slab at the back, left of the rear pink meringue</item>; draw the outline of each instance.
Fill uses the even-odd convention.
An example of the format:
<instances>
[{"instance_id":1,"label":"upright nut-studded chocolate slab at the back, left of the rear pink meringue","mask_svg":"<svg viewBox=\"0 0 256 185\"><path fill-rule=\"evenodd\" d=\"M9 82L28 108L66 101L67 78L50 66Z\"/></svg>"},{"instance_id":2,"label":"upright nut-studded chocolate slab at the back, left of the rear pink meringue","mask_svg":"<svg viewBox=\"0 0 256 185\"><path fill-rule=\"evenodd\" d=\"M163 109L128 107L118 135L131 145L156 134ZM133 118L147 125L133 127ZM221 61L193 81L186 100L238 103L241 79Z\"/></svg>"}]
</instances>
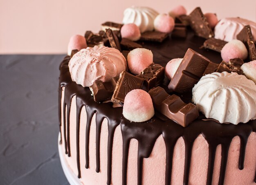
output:
<instances>
[{"instance_id":1,"label":"upright nut-studded chocolate slab at the back, left of the rear pink meringue","mask_svg":"<svg viewBox=\"0 0 256 185\"><path fill-rule=\"evenodd\" d=\"M204 14L200 7L195 8L189 15L190 26L195 31L195 35L205 39L214 37L214 33L209 26Z\"/></svg>"}]
</instances>

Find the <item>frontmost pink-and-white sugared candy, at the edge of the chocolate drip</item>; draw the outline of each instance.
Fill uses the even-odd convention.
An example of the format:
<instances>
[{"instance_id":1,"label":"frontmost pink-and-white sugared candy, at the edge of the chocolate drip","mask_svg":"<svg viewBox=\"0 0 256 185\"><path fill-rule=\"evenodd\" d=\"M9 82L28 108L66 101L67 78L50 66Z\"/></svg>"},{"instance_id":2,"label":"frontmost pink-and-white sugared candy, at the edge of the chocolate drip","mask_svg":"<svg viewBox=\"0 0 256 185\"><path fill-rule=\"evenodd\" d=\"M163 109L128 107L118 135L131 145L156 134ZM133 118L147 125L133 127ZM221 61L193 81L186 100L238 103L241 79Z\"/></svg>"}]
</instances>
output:
<instances>
[{"instance_id":1,"label":"frontmost pink-and-white sugared candy, at the edge of the chocolate drip","mask_svg":"<svg viewBox=\"0 0 256 185\"><path fill-rule=\"evenodd\" d=\"M155 114L150 95L141 89L134 89L124 98L123 115L133 122L143 122Z\"/></svg>"}]
</instances>

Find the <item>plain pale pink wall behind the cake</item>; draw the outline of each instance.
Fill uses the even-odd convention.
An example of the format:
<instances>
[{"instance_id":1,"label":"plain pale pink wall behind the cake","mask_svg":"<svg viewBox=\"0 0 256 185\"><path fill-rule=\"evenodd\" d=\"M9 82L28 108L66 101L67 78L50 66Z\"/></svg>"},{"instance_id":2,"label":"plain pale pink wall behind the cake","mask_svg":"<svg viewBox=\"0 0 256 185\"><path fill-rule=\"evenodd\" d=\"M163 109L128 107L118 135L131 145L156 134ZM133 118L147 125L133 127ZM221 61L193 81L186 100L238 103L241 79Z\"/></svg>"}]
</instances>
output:
<instances>
[{"instance_id":1,"label":"plain pale pink wall behind the cake","mask_svg":"<svg viewBox=\"0 0 256 185\"><path fill-rule=\"evenodd\" d=\"M200 6L218 18L256 21L256 0L0 0L0 53L66 53L71 35L98 31L108 20L121 22L127 7L168 13L179 4L188 13Z\"/></svg>"}]
</instances>

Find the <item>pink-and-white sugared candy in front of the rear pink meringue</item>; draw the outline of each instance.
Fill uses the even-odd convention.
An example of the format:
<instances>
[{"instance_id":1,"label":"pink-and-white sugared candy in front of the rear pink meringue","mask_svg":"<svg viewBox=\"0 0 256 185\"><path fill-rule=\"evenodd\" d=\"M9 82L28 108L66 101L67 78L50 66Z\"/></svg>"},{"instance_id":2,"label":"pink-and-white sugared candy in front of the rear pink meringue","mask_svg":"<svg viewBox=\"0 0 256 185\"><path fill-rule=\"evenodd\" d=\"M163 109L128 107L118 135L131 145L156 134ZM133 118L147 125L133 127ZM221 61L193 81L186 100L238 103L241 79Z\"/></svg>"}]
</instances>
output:
<instances>
[{"instance_id":1,"label":"pink-and-white sugared candy in front of the rear pink meringue","mask_svg":"<svg viewBox=\"0 0 256 185\"><path fill-rule=\"evenodd\" d=\"M240 40L231 40L221 50L221 57L225 62L229 62L229 59L240 58L246 59L248 55L245 44Z\"/></svg>"}]
</instances>

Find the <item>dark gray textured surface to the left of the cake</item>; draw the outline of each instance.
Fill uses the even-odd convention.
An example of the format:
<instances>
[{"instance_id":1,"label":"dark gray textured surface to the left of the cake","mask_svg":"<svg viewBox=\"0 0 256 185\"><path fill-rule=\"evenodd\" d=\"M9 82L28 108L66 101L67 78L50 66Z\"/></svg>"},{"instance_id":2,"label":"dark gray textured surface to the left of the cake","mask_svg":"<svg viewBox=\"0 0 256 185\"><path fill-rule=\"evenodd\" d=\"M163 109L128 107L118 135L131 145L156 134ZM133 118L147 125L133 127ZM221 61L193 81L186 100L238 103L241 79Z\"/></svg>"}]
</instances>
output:
<instances>
[{"instance_id":1,"label":"dark gray textured surface to the left of the cake","mask_svg":"<svg viewBox=\"0 0 256 185\"><path fill-rule=\"evenodd\" d=\"M65 185L58 156L64 55L0 55L0 185Z\"/></svg>"}]
</instances>

